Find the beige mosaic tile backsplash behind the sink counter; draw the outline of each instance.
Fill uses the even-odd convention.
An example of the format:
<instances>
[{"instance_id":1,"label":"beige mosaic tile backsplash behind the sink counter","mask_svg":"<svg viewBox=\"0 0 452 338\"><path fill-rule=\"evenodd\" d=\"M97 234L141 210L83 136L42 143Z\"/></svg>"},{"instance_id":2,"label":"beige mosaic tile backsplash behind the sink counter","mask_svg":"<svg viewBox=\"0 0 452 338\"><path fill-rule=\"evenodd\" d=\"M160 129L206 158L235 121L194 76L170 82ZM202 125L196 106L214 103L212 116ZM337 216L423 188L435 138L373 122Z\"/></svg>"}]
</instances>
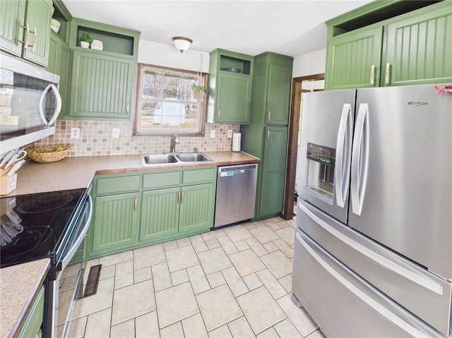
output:
<instances>
[{"instance_id":1,"label":"beige mosaic tile backsplash behind the sink counter","mask_svg":"<svg viewBox=\"0 0 452 338\"><path fill-rule=\"evenodd\" d=\"M232 149L232 138L227 131L239 132L239 125L206 123L204 136L178 136L177 152L200 152ZM80 128L80 138L71 138L71 128ZM113 128L119 128L119 138L112 138ZM210 131L215 129L215 138ZM133 121L57 121L54 135L43 138L36 146L71 143L69 156L129 155L169 152L169 136L133 136Z\"/></svg>"}]
</instances>

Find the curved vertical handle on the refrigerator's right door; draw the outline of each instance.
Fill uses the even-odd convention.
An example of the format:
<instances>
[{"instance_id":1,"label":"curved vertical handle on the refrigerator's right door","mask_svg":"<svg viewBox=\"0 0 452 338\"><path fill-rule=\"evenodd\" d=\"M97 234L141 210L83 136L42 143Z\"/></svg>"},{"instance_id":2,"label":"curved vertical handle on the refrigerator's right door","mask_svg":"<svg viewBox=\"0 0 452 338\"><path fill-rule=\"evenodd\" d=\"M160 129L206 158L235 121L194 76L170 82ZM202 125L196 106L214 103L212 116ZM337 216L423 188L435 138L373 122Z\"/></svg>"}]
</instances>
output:
<instances>
[{"instance_id":1,"label":"curved vertical handle on the refrigerator's right door","mask_svg":"<svg viewBox=\"0 0 452 338\"><path fill-rule=\"evenodd\" d=\"M361 215L367 183L367 164L369 162L369 105L359 104L356 119L355 138L352 147L352 179L350 195L352 212Z\"/></svg>"}]
</instances>

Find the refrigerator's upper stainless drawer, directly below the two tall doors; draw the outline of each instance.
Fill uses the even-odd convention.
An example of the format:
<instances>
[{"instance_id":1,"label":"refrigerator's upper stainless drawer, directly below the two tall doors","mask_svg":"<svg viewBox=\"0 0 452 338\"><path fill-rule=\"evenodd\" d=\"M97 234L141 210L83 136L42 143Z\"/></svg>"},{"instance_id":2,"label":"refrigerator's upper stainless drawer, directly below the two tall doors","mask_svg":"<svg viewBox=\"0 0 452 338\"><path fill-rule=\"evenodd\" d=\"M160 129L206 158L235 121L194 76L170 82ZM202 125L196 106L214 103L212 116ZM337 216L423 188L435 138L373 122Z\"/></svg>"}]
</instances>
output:
<instances>
[{"instance_id":1,"label":"refrigerator's upper stainless drawer, directly below the two tall doors","mask_svg":"<svg viewBox=\"0 0 452 338\"><path fill-rule=\"evenodd\" d=\"M448 336L452 282L436 277L302 200L298 201L297 227L359 277Z\"/></svg>"}]
</instances>

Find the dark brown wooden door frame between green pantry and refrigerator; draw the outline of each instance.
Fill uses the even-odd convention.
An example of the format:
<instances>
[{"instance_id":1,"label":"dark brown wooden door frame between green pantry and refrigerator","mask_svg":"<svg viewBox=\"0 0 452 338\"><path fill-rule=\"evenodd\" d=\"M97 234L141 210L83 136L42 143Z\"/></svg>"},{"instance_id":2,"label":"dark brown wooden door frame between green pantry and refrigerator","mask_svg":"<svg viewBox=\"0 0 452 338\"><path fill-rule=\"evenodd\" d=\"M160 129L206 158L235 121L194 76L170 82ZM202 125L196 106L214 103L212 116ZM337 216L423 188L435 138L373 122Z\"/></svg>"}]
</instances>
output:
<instances>
[{"instance_id":1,"label":"dark brown wooden door frame between green pantry and refrigerator","mask_svg":"<svg viewBox=\"0 0 452 338\"><path fill-rule=\"evenodd\" d=\"M300 76L292 79L292 97L290 99L289 140L287 145L287 166L285 171L285 191L283 219L294 217L295 178L297 174L298 129L300 104L302 102L303 81L325 80L325 73Z\"/></svg>"}]
</instances>

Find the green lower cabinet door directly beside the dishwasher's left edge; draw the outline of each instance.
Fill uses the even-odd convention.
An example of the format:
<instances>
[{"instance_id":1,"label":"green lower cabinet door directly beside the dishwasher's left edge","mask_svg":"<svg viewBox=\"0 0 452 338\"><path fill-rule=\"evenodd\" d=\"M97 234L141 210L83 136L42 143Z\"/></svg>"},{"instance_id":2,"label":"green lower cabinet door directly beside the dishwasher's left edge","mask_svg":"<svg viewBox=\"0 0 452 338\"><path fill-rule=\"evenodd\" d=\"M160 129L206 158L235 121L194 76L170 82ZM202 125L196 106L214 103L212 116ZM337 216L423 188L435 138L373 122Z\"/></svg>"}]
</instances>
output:
<instances>
[{"instance_id":1,"label":"green lower cabinet door directly beside the dishwasher's left edge","mask_svg":"<svg viewBox=\"0 0 452 338\"><path fill-rule=\"evenodd\" d=\"M215 185L184 186L181 193L179 234L194 234L213 227Z\"/></svg>"}]
</instances>

